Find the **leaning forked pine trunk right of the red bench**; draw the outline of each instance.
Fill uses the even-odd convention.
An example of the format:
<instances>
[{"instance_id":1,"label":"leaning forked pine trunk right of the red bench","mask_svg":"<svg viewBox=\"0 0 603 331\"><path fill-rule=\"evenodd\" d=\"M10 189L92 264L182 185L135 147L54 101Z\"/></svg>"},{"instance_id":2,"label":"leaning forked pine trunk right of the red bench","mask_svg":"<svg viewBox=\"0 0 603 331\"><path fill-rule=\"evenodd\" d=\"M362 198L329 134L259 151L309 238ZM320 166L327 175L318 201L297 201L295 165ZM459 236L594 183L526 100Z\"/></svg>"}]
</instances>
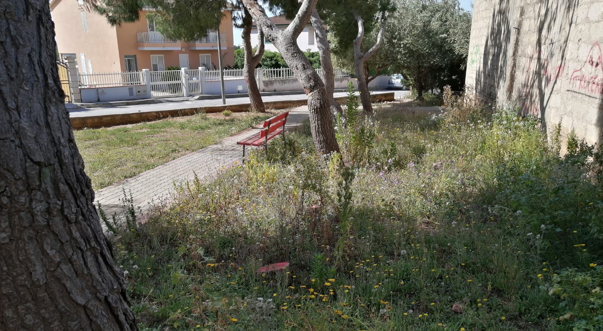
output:
<instances>
[{"instance_id":1,"label":"leaning forked pine trunk right of the red bench","mask_svg":"<svg viewBox=\"0 0 603 331\"><path fill-rule=\"evenodd\" d=\"M280 51L283 59L293 71L301 87L306 91L306 95L308 95L310 128L317 152L325 155L339 152L327 90L306 55L297 46L297 36L308 23L317 0L304 0L295 18L283 31L268 19L264 8L257 0L242 1L251 16L256 20L258 28L264 30L268 40Z\"/></svg>"}]
</instances>

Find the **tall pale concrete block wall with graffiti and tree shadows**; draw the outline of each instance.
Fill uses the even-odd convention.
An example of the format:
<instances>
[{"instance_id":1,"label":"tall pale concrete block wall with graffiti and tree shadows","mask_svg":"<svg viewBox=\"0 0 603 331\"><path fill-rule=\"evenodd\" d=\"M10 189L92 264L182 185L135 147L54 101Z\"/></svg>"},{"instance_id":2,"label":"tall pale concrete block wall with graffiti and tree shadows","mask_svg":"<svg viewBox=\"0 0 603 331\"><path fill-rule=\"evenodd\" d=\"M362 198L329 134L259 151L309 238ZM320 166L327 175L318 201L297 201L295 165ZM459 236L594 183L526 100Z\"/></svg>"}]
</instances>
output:
<instances>
[{"instance_id":1,"label":"tall pale concrete block wall with graffiti and tree shadows","mask_svg":"<svg viewBox=\"0 0 603 331\"><path fill-rule=\"evenodd\" d=\"M600 145L602 51L603 0L475 0L466 84Z\"/></svg>"}]
</instances>

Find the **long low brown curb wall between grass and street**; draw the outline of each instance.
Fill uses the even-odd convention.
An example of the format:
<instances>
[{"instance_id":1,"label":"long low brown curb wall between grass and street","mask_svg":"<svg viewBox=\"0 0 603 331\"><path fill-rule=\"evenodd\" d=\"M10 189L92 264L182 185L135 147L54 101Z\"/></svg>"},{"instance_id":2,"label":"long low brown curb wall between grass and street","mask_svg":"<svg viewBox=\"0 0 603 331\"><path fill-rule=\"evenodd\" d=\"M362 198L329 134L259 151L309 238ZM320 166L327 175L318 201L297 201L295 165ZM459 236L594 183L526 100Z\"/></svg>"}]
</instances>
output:
<instances>
[{"instance_id":1,"label":"long low brown curb wall between grass and street","mask_svg":"<svg viewBox=\"0 0 603 331\"><path fill-rule=\"evenodd\" d=\"M394 101L394 92L385 92L372 95L373 102ZM343 104L347 97L336 97L335 101ZM266 108L285 109L299 107L308 104L308 99L286 100L286 101L267 101L264 102ZM71 126L74 130L83 128L106 128L108 126L135 124L151 120L165 119L166 117L190 116L197 113L221 113L224 110L230 110L235 113L249 111L250 104L232 104L216 105L207 107L180 108L174 110L143 111L139 113L111 114L99 116L81 116L71 117Z\"/></svg>"}]
</instances>

